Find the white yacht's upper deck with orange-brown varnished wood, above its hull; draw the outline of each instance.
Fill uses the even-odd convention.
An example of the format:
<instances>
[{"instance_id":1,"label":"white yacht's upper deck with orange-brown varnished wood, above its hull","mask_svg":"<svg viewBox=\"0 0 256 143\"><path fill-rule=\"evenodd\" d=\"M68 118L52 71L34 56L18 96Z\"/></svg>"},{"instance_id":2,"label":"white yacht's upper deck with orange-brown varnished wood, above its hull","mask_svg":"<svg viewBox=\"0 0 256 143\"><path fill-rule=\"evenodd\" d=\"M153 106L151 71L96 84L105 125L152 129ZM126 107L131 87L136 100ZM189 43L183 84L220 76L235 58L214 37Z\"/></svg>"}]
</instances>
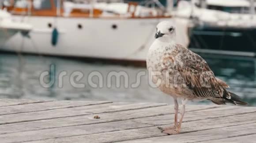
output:
<instances>
[{"instance_id":1,"label":"white yacht's upper deck with orange-brown varnished wood, above its hull","mask_svg":"<svg viewBox=\"0 0 256 143\"><path fill-rule=\"evenodd\" d=\"M41 0L45 5L38 7L34 0L27 0L23 6L17 1L9 6L3 6L11 14L32 16L62 16L87 18L161 18L169 17L164 6L158 0L147 0L146 6L137 2L129 3L99 3L96 0L84 4L75 4L66 0ZM147 7L149 4L158 7Z\"/></svg>"}]
</instances>

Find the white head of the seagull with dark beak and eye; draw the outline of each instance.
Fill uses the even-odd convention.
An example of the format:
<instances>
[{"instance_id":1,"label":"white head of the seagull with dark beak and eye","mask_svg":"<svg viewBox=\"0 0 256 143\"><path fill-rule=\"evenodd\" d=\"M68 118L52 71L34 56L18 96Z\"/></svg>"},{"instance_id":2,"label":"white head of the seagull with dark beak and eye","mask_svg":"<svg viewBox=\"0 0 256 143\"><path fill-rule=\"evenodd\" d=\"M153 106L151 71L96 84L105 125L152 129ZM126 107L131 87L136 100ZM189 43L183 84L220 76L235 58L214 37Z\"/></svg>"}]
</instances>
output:
<instances>
[{"instance_id":1,"label":"white head of the seagull with dark beak and eye","mask_svg":"<svg viewBox=\"0 0 256 143\"><path fill-rule=\"evenodd\" d=\"M175 38L176 29L172 21L162 21L156 26L155 39L170 40Z\"/></svg>"}]
</instances>

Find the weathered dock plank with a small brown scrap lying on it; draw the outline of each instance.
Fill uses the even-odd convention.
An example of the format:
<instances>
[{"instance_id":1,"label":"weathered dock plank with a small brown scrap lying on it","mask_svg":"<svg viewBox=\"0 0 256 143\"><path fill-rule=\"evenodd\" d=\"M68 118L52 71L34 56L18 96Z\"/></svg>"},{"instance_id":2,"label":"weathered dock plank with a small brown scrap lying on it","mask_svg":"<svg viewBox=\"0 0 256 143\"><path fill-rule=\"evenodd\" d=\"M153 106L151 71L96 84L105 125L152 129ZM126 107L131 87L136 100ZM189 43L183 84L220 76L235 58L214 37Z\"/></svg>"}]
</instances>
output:
<instances>
[{"instance_id":1,"label":"weathered dock plank with a small brown scrap lying on it","mask_svg":"<svg viewBox=\"0 0 256 143\"><path fill-rule=\"evenodd\" d=\"M205 106L205 105L190 105L187 111L207 110L211 108L217 108L220 106ZM135 108L135 107L133 107ZM136 119L164 114L173 114L173 105L143 108L132 111L119 111L104 114L96 114L101 118L98 120L91 119L94 115L76 116L69 118L55 118L49 120L39 120L26 123L14 123L0 125L0 134L11 133L11 132L24 132L38 129L49 129L57 127L77 126L77 125L90 125L104 122L115 122L128 119ZM169 119L168 119L169 121Z\"/></svg>"}]
</instances>

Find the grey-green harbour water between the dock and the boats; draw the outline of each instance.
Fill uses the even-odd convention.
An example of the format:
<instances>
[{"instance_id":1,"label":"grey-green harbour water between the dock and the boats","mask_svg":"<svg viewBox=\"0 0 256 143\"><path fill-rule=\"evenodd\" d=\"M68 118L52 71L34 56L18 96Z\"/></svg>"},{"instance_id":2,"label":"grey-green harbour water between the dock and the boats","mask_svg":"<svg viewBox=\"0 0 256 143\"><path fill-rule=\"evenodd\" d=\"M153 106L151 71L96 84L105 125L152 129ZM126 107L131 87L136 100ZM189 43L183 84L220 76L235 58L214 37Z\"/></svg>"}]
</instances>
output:
<instances>
[{"instance_id":1,"label":"grey-green harbour water between the dock and the boats","mask_svg":"<svg viewBox=\"0 0 256 143\"><path fill-rule=\"evenodd\" d=\"M248 57L229 57L202 55L209 63L215 75L230 85L230 91L240 95L250 105L256 106L256 59ZM49 88L43 87L39 76L50 71L50 65L55 69L51 76L45 77L45 82L55 81ZM128 75L128 88L124 87L124 78L120 79L120 87L114 78L107 84L109 72L125 72ZM62 79L58 76L66 72ZM83 73L79 81L70 81L73 72ZM88 75L97 72L102 75L102 87L91 87ZM50 100L112 100L132 102L172 103L172 98L148 84L147 75L142 76L140 84L132 88L136 82L137 73L146 72L145 68L104 64L102 62L87 63L56 57L17 56L15 54L0 54L0 98L26 98ZM56 79L56 80L53 80ZM74 78L71 78L74 79ZM99 85L97 77L92 81ZM83 83L85 87L77 88L74 84ZM108 87L108 85L110 87ZM77 86L77 85L76 85ZM208 101L192 102L192 104L210 104Z\"/></svg>"}]
</instances>

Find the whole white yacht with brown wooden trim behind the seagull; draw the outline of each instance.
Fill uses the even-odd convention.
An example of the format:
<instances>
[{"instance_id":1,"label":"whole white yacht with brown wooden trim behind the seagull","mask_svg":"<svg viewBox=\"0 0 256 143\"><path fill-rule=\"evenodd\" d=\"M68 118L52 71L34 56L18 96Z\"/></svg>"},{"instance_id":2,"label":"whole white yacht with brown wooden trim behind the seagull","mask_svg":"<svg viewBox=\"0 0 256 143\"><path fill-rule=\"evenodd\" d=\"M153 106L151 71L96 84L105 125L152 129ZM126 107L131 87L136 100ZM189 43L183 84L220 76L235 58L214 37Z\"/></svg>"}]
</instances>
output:
<instances>
[{"instance_id":1,"label":"whole white yacht with brown wooden trim behind the seagull","mask_svg":"<svg viewBox=\"0 0 256 143\"><path fill-rule=\"evenodd\" d=\"M28 22L33 26L30 39L15 35L2 50L145 61L154 40L155 26L159 21L173 18L172 7L165 8L158 0L145 3L151 7L134 2L91 0L76 4L65 0L18 0L6 8L15 21ZM187 46L186 21L178 22L179 43ZM22 40L23 46L20 46L17 41Z\"/></svg>"}]
</instances>

